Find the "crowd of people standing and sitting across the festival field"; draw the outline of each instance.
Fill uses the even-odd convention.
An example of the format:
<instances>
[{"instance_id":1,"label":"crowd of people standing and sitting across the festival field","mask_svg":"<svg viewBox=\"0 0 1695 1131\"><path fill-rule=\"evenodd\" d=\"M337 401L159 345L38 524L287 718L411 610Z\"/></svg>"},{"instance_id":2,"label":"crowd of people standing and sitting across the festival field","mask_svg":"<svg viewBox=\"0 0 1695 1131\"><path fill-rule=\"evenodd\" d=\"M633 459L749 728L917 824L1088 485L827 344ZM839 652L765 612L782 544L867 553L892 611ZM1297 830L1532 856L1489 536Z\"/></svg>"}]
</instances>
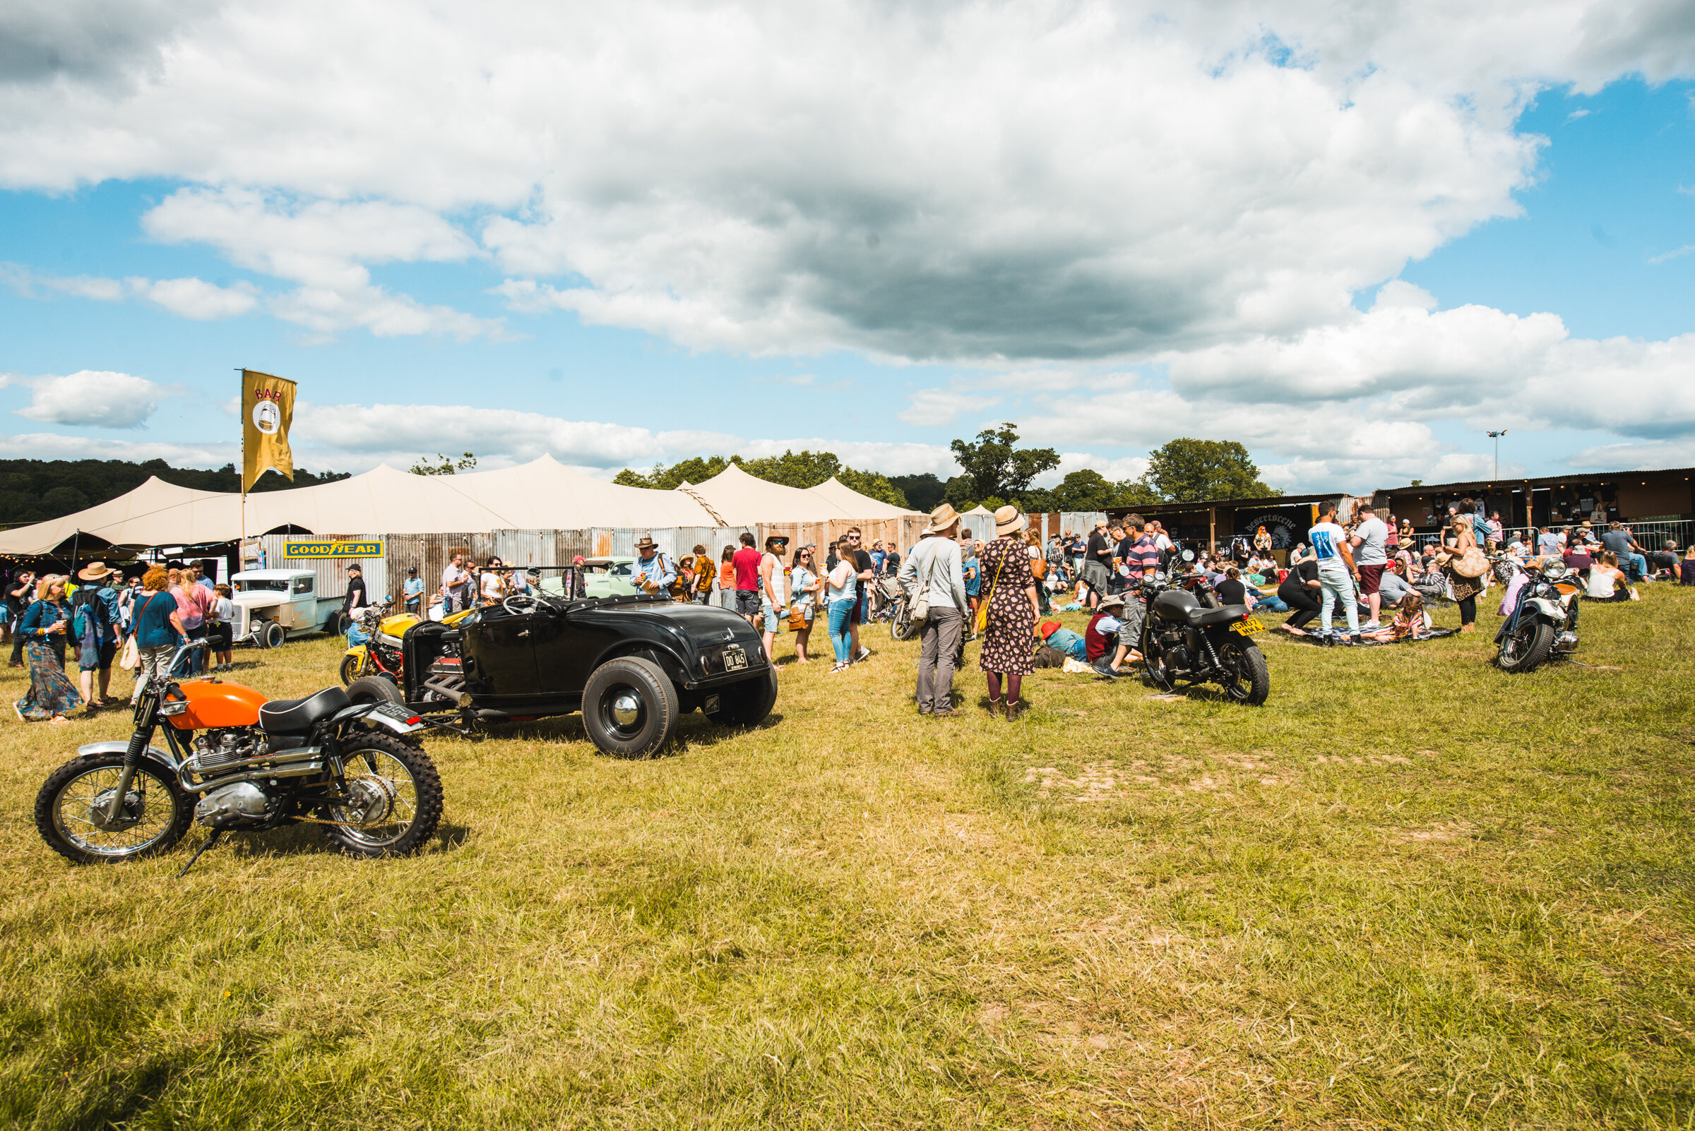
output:
<instances>
[{"instance_id":1,"label":"crowd of people standing and sitting across the festival field","mask_svg":"<svg viewBox=\"0 0 1695 1131\"><path fill-rule=\"evenodd\" d=\"M1181 552L1159 521L1141 515L1117 523L1100 520L1086 535L1064 530L1044 543L1017 508L1003 506L993 527L990 538L975 537L944 503L905 557L893 543L866 545L853 527L822 549L824 560L817 543L790 552L783 535L759 545L756 535L742 533L717 557L695 545L676 559L644 535L636 542L631 581L646 593L734 611L761 633L768 655L778 633L793 633L797 664L812 662L812 633L822 623L831 672L871 657L861 626L890 615L893 599L905 594L915 623L922 623L920 714L953 713L951 684L964 643L976 638L983 642L978 662L988 677L990 709L1007 718L1024 709L1022 677L1037 664L1070 662L1119 677L1141 660L1146 606L1136 589L1151 571L1173 569ZM508 567L500 557L468 566L466 557L463 550L451 555L434 594L441 611L429 613L447 615L541 588L534 569ZM1337 521L1337 506L1325 503L1307 540L1281 564L1261 528L1227 545L1203 545L1183 569L1205 577L1220 604L1287 615L1281 632L1320 643L1364 643L1429 635L1429 608L1436 603L1453 603L1459 632L1473 632L1478 598L1495 572L1492 562L1551 557L1564 562L1592 601L1637 599L1636 586L1651 581L1695 586L1695 542L1680 549L1666 540L1648 549L1619 521L1605 530L1583 521L1507 532L1498 515L1485 515L1471 499L1451 506L1441 530L1422 537L1395 515L1380 518L1370 499L1358 499L1346 521ZM173 560L127 576L103 562L92 562L75 577L25 569L3 584L3 594L10 665L27 665L31 676L29 691L15 704L25 721L58 723L76 709L120 704L110 694L120 654L122 665L136 669L131 701L147 679L166 676L181 642L205 640L210 657L192 654L180 662L178 676L203 670L208 659L212 670L232 664L232 593L227 584L214 584L202 562ZM417 569L407 571L402 599L407 611L425 615ZM354 564L344 611L368 603ZM1054 608L1086 611L1083 632L1042 620ZM75 682L71 657L80 674Z\"/></svg>"}]
</instances>

